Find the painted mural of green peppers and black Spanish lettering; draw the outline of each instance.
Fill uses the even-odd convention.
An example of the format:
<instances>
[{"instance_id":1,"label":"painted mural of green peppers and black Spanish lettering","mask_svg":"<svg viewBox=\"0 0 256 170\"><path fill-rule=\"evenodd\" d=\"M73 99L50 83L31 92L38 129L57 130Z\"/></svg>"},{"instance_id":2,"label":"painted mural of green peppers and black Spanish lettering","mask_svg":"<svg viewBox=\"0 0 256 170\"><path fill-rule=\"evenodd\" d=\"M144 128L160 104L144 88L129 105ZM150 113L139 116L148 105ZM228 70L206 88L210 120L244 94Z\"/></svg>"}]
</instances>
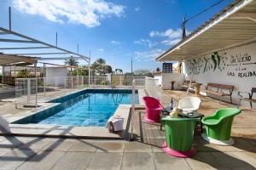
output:
<instances>
[{"instance_id":1,"label":"painted mural of green peppers and black Spanish lettering","mask_svg":"<svg viewBox=\"0 0 256 170\"><path fill-rule=\"evenodd\" d=\"M189 75L204 74L208 71L224 72L228 77L256 77L256 59L250 54L214 52L196 59L185 61Z\"/></svg>"}]
</instances>

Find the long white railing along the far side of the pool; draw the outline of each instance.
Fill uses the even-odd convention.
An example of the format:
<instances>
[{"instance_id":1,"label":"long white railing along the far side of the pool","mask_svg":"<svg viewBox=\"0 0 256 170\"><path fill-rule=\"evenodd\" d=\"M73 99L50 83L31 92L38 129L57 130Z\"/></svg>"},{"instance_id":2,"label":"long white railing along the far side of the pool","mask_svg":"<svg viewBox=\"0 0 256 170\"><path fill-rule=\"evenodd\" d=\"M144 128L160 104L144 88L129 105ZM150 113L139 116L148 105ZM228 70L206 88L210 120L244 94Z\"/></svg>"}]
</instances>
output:
<instances>
[{"instance_id":1,"label":"long white railing along the far side of the pool","mask_svg":"<svg viewBox=\"0 0 256 170\"><path fill-rule=\"evenodd\" d=\"M144 79L136 75L38 77L16 78L15 97L18 105L38 105L38 99L49 98L63 91L81 88L132 88L133 80ZM142 84L144 87L144 85Z\"/></svg>"}]
</instances>

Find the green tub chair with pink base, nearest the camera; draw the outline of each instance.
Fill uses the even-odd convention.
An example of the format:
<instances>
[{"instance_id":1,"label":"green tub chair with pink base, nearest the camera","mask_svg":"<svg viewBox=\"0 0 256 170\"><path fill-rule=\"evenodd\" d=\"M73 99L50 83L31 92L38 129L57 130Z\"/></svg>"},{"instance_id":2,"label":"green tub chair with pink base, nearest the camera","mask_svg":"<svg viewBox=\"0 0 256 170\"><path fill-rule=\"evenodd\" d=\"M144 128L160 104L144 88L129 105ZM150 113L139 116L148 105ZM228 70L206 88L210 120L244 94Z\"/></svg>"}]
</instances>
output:
<instances>
[{"instance_id":1,"label":"green tub chair with pink base, nearest the camera","mask_svg":"<svg viewBox=\"0 0 256 170\"><path fill-rule=\"evenodd\" d=\"M166 116L161 122L166 127L166 143L162 145L167 154L177 157L190 157L195 155L192 147L197 118L172 118Z\"/></svg>"}]
</instances>

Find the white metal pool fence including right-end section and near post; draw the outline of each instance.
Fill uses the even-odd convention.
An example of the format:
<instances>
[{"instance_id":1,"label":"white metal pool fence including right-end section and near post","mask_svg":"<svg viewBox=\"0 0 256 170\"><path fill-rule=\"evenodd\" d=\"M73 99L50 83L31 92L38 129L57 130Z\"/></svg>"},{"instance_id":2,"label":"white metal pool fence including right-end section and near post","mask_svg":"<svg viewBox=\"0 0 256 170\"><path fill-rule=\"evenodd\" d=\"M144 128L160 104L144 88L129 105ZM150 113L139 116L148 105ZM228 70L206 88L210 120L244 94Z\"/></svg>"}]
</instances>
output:
<instances>
[{"instance_id":1,"label":"white metal pool fence including right-end section and near post","mask_svg":"<svg viewBox=\"0 0 256 170\"><path fill-rule=\"evenodd\" d=\"M73 92L80 88L132 88L130 139L133 139L133 115L135 110L135 91L145 88L148 95L160 99L160 86L157 79L144 76L92 76L92 77L39 77L16 78L16 107L20 105L38 106L39 99L50 99L63 91Z\"/></svg>"}]
</instances>

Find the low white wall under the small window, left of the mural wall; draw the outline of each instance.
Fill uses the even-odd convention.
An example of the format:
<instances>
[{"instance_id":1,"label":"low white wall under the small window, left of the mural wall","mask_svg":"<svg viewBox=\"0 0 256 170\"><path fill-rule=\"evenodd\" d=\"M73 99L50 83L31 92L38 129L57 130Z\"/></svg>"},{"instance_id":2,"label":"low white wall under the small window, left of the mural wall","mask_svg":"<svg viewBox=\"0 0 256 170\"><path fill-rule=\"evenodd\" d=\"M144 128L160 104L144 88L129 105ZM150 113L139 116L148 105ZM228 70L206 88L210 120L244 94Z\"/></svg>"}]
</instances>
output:
<instances>
[{"instance_id":1,"label":"low white wall under the small window, left of the mural wall","mask_svg":"<svg viewBox=\"0 0 256 170\"><path fill-rule=\"evenodd\" d=\"M182 84L184 81L184 75L180 73L162 73L162 89L170 89L172 81L176 81L174 88L177 88L178 84Z\"/></svg>"}]
</instances>

